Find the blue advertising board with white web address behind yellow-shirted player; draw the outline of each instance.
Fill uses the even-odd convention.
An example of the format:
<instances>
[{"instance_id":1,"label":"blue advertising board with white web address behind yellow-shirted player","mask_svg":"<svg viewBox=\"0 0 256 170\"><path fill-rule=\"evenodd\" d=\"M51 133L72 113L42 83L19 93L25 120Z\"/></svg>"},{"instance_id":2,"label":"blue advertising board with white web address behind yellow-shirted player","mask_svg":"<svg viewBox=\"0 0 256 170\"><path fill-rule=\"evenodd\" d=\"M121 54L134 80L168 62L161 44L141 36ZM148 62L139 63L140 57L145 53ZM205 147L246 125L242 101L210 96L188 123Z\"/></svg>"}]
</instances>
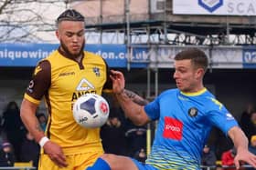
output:
<instances>
[{"instance_id":1,"label":"blue advertising board with white web address behind yellow-shirted player","mask_svg":"<svg viewBox=\"0 0 256 170\"><path fill-rule=\"evenodd\" d=\"M57 44L0 44L0 66L35 66L37 62L58 48ZM128 65L126 45L86 45L86 51L101 55L110 67ZM148 64L148 49L134 48L129 61L131 67Z\"/></svg>"}]
</instances>

